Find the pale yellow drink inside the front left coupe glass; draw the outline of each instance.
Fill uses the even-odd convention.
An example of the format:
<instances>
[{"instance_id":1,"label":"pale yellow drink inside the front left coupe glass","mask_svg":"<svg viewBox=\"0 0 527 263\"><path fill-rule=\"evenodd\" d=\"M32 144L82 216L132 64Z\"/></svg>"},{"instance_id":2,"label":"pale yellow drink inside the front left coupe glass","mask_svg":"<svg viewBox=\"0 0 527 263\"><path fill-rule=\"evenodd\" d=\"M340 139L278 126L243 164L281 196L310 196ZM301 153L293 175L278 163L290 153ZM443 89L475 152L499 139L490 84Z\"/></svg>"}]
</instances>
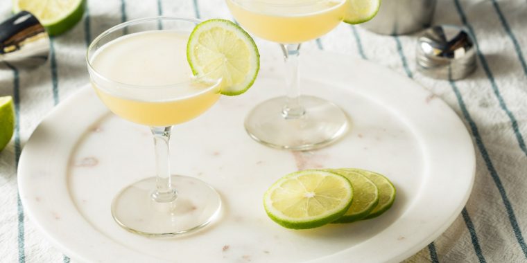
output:
<instances>
[{"instance_id":1,"label":"pale yellow drink inside the front left coupe glass","mask_svg":"<svg viewBox=\"0 0 527 263\"><path fill-rule=\"evenodd\" d=\"M166 127L196 118L220 91L216 82L193 79L188 39L189 33L152 30L104 44L91 60L98 96L114 114L142 125Z\"/></svg>"}]
</instances>

